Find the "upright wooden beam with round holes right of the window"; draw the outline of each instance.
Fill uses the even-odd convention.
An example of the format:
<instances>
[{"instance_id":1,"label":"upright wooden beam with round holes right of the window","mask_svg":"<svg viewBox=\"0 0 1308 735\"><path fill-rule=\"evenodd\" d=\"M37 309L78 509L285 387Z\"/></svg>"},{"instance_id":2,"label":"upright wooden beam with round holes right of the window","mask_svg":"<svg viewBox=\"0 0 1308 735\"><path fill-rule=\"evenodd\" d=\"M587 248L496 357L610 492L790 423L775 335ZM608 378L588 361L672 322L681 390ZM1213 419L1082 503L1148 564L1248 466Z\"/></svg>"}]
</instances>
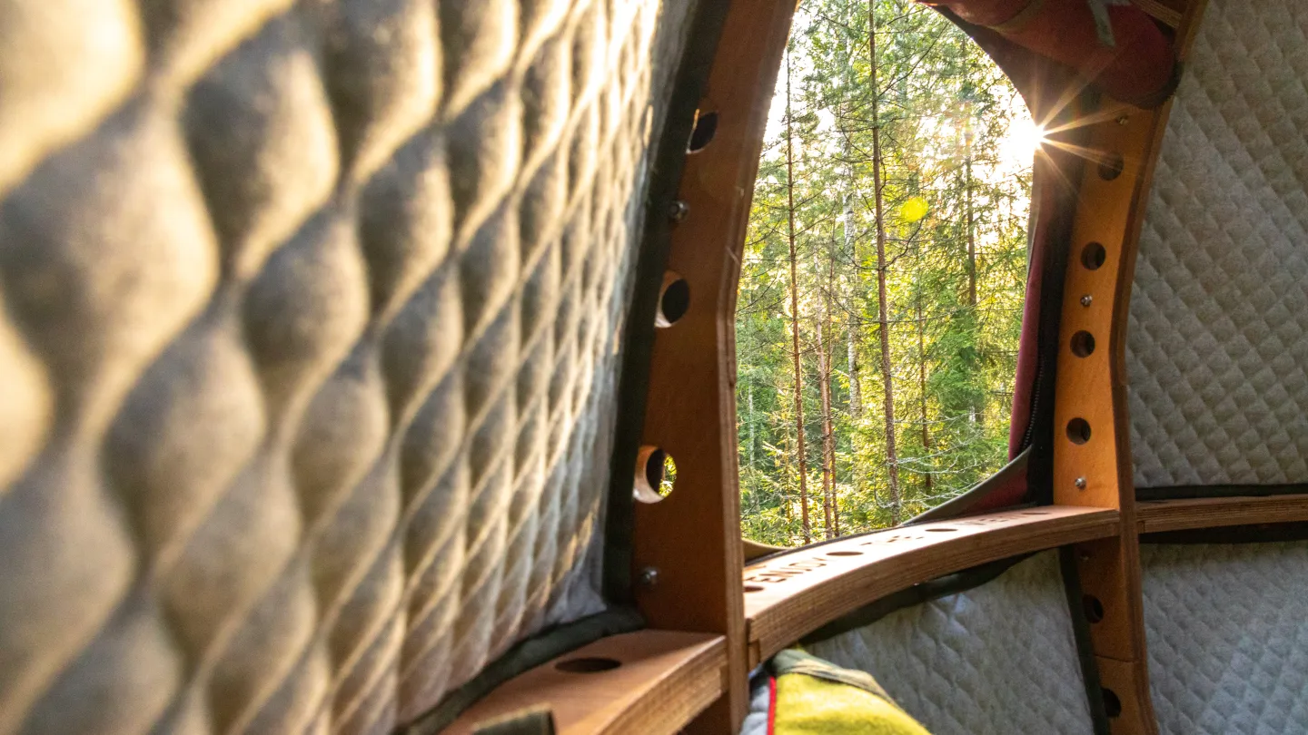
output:
<instances>
[{"instance_id":1,"label":"upright wooden beam with round holes right of the window","mask_svg":"<svg viewBox=\"0 0 1308 735\"><path fill-rule=\"evenodd\" d=\"M1184 58L1202 1L1176 22ZM1159 5L1154 3L1154 5ZM1090 131L1063 281L1054 399L1053 496L1057 505L1117 509L1116 538L1075 549L1091 642L1114 735L1155 735L1141 595L1126 328L1135 252L1171 102L1158 110L1108 106Z\"/></svg>"}]
</instances>

